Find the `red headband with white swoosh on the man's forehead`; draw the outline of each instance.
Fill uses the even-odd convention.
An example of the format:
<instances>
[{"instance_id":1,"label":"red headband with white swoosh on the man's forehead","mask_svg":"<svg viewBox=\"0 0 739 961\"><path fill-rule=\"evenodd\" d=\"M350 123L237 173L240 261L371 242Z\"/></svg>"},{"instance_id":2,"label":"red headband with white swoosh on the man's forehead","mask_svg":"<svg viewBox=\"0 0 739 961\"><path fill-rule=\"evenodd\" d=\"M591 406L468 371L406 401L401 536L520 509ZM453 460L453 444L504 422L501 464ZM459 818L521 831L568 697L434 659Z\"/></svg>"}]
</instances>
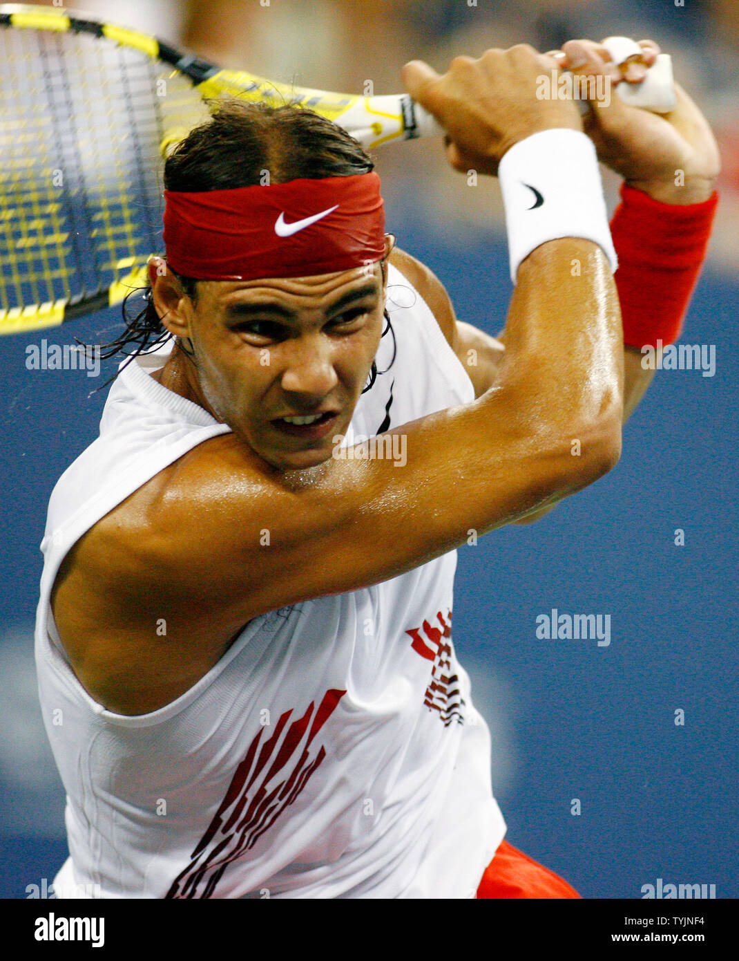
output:
<instances>
[{"instance_id":1,"label":"red headband with white swoosh on the man's forehead","mask_svg":"<svg viewBox=\"0 0 739 961\"><path fill-rule=\"evenodd\" d=\"M183 277L310 277L385 256L385 213L373 172L233 190L165 190L164 199L167 261Z\"/></svg>"}]
</instances>

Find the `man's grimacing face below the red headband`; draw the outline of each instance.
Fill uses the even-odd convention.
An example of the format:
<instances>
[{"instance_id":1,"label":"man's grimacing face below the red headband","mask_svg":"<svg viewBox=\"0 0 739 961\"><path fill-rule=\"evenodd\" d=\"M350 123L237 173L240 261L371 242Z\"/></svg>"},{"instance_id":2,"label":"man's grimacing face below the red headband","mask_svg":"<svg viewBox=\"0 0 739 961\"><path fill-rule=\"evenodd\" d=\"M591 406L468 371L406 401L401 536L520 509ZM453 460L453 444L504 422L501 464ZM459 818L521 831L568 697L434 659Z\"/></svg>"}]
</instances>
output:
<instances>
[{"instance_id":1,"label":"man's grimacing face below the red headband","mask_svg":"<svg viewBox=\"0 0 739 961\"><path fill-rule=\"evenodd\" d=\"M328 459L379 346L381 264L316 277L203 281L195 303L180 307L195 352L186 377L203 407L274 467L299 470Z\"/></svg>"}]
</instances>

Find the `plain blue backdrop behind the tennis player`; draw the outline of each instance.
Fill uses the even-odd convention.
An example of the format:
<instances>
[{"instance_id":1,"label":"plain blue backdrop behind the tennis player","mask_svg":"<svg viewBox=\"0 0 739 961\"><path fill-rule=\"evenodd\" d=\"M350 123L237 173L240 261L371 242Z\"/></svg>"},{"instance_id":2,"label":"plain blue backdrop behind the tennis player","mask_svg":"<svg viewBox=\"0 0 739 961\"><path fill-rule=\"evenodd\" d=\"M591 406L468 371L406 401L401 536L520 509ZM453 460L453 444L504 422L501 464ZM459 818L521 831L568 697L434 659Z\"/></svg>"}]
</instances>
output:
<instances>
[{"instance_id":1,"label":"plain blue backdrop behind the tennis player","mask_svg":"<svg viewBox=\"0 0 739 961\"><path fill-rule=\"evenodd\" d=\"M436 270L461 319L500 330L511 287L499 236L442 238L402 205L389 226ZM716 345L716 375L658 373L608 477L542 521L460 552L454 639L491 727L509 840L588 898L639 898L657 877L739 895L738 294L725 277L703 276L683 340ZM106 394L88 396L105 371L99 380L29 371L25 347L43 336L105 341L117 326L107 311L63 331L0 337L4 897L51 880L66 855L33 674L37 545L54 482L96 435ZM552 607L609 613L609 647L537 639L536 615Z\"/></svg>"}]
</instances>

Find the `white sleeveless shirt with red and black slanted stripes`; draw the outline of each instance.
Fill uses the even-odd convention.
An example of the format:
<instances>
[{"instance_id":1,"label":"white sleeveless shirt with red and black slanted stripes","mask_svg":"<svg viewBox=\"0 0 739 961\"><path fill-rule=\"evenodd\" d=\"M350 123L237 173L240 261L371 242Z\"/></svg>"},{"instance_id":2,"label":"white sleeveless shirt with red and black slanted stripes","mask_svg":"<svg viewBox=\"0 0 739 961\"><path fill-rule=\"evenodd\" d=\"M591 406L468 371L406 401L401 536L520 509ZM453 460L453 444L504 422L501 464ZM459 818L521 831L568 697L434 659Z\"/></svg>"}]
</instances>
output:
<instances>
[{"instance_id":1,"label":"white sleeveless shirt with red and black slanted stripes","mask_svg":"<svg viewBox=\"0 0 739 961\"><path fill-rule=\"evenodd\" d=\"M474 399L392 265L389 285L396 356L360 398L346 444ZM489 729L452 645L456 552L250 621L203 678L148 714L106 710L76 678L50 607L64 555L167 465L230 431L150 376L168 353L113 383L41 543L36 668L70 850L58 896L474 898L505 825ZM386 333L379 371L392 359Z\"/></svg>"}]
</instances>

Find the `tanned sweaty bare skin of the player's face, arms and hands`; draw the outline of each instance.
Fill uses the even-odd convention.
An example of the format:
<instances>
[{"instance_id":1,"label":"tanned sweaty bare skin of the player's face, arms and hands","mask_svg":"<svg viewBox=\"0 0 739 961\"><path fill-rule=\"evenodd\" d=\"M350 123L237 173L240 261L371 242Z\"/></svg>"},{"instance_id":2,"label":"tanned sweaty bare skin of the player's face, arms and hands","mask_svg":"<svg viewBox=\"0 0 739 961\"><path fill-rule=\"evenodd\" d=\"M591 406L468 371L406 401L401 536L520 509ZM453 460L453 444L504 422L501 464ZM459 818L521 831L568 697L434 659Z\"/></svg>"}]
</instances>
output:
<instances>
[{"instance_id":1,"label":"tanned sweaty bare skin of the player's face, arms and hands","mask_svg":"<svg viewBox=\"0 0 739 961\"><path fill-rule=\"evenodd\" d=\"M447 130L453 165L492 173L525 136L583 129L573 104L536 100L537 75L556 66L521 46L458 58L442 77L409 64L404 80ZM681 91L669 119L645 119L645 111L617 100L597 114L599 151L642 189L678 203L664 169L682 150L690 196L701 196L712 167L702 161L697 111ZM191 361L175 351L157 379L234 432L157 474L62 564L52 600L60 637L86 690L109 710L155 710L202 678L251 618L392 578L463 544L470 528L484 533L531 519L618 460L624 411L652 372L640 369L633 352L624 356L600 248L565 238L522 262L505 348L455 320L422 264L400 251L390 257L432 308L476 394L472 404L393 431L407 438L402 470L384 459L330 456L331 437L348 424L379 343L379 263L291 281L203 283L195 303L171 274L153 268L155 306L194 352ZM582 263L577 279L573 258ZM364 300L337 308L363 287ZM266 312L236 316L227 308L238 303ZM478 352L475 368L465 362L470 347ZM259 363L265 349L268 366ZM325 436L296 436L276 423L313 412L334 415ZM570 456L573 437L580 457ZM260 545L265 528L269 548ZM156 635L158 618L167 620L166 638Z\"/></svg>"}]
</instances>

